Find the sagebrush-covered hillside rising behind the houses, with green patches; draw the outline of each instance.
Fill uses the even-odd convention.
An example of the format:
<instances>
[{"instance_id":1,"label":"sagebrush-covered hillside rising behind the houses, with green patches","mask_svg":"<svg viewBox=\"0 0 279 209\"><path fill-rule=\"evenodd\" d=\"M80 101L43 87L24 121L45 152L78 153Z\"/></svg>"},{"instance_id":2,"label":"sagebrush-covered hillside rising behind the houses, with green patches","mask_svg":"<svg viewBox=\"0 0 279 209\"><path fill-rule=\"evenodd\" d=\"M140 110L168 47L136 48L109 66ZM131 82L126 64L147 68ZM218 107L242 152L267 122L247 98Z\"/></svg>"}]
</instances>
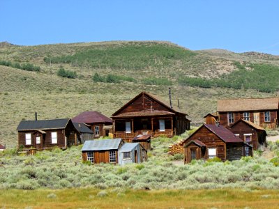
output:
<instances>
[{"instance_id":1,"label":"sagebrush-covered hillside rising behind the houses, with green patches","mask_svg":"<svg viewBox=\"0 0 279 209\"><path fill-rule=\"evenodd\" d=\"M180 110L198 125L203 121L202 116L216 111L218 99L273 96L279 88L277 56L236 54L221 49L190 51L171 42L89 42L28 47L3 44L0 64L0 144L8 147L17 144L18 123L22 119L33 120L35 111L39 119L71 118L86 110L111 116L140 91L149 91L168 101L170 86L173 103L179 99ZM60 68L75 71L77 77L59 77ZM39 70L30 71L33 69ZM264 70L270 71L262 73ZM96 72L104 78L109 75L110 81L94 82L92 77ZM184 83L196 77L211 82L219 78L227 84L226 79L238 80L239 73L257 82L259 72L260 79L270 81L262 82L259 89L241 84L239 89L220 88L216 83L200 88L195 82ZM265 91L271 89L269 84L275 86L271 93Z\"/></svg>"}]
</instances>

